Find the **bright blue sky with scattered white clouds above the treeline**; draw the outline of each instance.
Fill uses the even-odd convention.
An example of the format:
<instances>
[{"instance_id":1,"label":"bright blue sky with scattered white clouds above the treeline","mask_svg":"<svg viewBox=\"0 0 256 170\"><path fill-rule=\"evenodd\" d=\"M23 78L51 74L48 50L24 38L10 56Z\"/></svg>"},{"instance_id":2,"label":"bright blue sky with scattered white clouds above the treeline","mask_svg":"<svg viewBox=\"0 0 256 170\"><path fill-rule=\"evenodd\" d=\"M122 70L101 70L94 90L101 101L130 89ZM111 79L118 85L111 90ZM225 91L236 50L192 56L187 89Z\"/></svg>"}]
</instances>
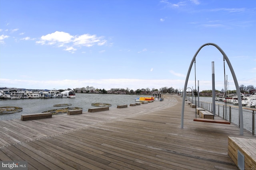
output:
<instances>
[{"instance_id":1,"label":"bright blue sky with scattered white clouds above the treeline","mask_svg":"<svg viewBox=\"0 0 256 170\"><path fill-rule=\"evenodd\" d=\"M182 89L205 43L226 53L239 85L256 86L255 0L0 0L0 87ZM206 46L200 91L212 89L212 61L215 88L225 63L235 90L221 53Z\"/></svg>"}]
</instances>

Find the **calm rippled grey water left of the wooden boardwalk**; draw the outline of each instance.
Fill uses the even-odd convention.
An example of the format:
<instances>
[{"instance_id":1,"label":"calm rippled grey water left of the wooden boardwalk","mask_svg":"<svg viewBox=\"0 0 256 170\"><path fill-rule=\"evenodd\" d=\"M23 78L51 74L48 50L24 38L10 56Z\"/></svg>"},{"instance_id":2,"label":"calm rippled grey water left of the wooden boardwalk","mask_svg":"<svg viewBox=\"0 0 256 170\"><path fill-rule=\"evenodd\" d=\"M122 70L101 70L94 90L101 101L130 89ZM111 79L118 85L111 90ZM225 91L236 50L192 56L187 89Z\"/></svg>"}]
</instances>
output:
<instances>
[{"instance_id":1,"label":"calm rippled grey water left of the wooden boardwalk","mask_svg":"<svg viewBox=\"0 0 256 170\"><path fill-rule=\"evenodd\" d=\"M140 95L141 96L141 95ZM0 107L15 106L22 107L23 110L11 114L0 114L0 120L20 119L22 114L42 113L50 109L58 109L63 107L54 107L55 104L72 104L68 107L82 107L83 111L88 111L92 103L107 103L111 107L120 104L130 104L135 102L136 95L116 95L116 94L76 94L76 98L48 98L48 99L0 99Z\"/></svg>"}]
</instances>

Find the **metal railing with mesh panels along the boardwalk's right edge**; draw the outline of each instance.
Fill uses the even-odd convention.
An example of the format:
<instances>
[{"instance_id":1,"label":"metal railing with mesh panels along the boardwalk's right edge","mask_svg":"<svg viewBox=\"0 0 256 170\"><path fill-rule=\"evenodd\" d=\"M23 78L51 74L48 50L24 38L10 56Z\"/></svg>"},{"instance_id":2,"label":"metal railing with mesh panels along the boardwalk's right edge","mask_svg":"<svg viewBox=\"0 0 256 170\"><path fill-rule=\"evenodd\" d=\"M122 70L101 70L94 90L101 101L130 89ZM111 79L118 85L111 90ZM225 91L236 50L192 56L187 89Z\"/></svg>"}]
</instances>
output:
<instances>
[{"instance_id":1,"label":"metal railing with mesh panels along the boardwalk's right edge","mask_svg":"<svg viewBox=\"0 0 256 170\"><path fill-rule=\"evenodd\" d=\"M192 103L195 104L195 101ZM196 106L198 106L198 102L196 101ZM211 102L199 102L199 106L213 113L212 103ZM215 115L222 117L225 120L228 120L240 127L240 119L239 119L239 107L238 106L230 106L228 104L215 104ZM242 107L243 109L243 119L244 119L244 129L250 131L252 135L255 135L255 122L256 122L256 108L252 107Z\"/></svg>"}]
</instances>

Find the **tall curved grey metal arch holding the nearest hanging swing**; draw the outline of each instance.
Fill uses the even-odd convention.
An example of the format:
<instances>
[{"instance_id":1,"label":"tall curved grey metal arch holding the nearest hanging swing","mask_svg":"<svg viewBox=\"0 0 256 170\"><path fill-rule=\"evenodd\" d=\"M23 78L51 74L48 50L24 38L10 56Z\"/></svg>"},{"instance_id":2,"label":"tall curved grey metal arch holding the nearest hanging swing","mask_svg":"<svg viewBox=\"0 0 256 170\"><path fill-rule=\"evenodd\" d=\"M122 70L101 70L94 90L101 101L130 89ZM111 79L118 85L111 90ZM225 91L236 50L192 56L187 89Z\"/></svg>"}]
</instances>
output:
<instances>
[{"instance_id":1,"label":"tall curved grey metal arch holding the nearest hanging swing","mask_svg":"<svg viewBox=\"0 0 256 170\"><path fill-rule=\"evenodd\" d=\"M187 76L186 76L184 89L187 89L189 74L191 72L191 68L192 68L193 63L196 60L196 56L198 55L199 51L206 45L213 45L214 47L216 47L220 51L220 53L222 53L223 60L225 59L228 66L229 66L230 72L231 72L231 74L233 76L233 79L234 79L234 83L235 83L235 86L236 86L236 93L237 93L237 97L238 97L239 117L240 117L239 118L240 119L240 135L243 135L244 134L244 119L243 119L243 110L242 110L242 100L241 100L240 89L239 89L238 82L237 82L237 79L236 79L236 74L234 72L234 69L233 69L227 55L224 53L224 51L218 45L216 45L214 43L206 43L198 49L198 51L194 55L194 57L193 57L193 59L190 63L190 66L188 68L188 73L187 73ZM184 125L184 106L185 106L185 96L183 95L182 96L181 125L180 125L182 129L183 129L183 125Z\"/></svg>"}]
</instances>

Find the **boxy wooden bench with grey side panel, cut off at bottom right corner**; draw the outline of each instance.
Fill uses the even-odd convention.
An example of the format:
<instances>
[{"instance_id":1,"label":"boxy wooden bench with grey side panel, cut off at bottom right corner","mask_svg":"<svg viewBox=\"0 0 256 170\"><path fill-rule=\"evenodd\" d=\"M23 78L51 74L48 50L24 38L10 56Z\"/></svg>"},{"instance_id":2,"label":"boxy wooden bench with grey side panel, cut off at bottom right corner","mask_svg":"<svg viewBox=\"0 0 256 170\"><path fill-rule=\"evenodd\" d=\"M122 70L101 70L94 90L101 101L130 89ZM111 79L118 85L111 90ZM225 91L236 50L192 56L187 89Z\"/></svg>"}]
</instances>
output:
<instances>
[{"instance_id":1,"label":"boxy wooden bench with grey side panel, cut off at bottom right corner","mask_svg":"<svg viewBox=\"0 0 256 170\"><path fill-rule=\"evenodd\" d=\"M254 170L256 168L256 139L228 137L228 155L238 168Z\"/></svg>"}]
</instances>

